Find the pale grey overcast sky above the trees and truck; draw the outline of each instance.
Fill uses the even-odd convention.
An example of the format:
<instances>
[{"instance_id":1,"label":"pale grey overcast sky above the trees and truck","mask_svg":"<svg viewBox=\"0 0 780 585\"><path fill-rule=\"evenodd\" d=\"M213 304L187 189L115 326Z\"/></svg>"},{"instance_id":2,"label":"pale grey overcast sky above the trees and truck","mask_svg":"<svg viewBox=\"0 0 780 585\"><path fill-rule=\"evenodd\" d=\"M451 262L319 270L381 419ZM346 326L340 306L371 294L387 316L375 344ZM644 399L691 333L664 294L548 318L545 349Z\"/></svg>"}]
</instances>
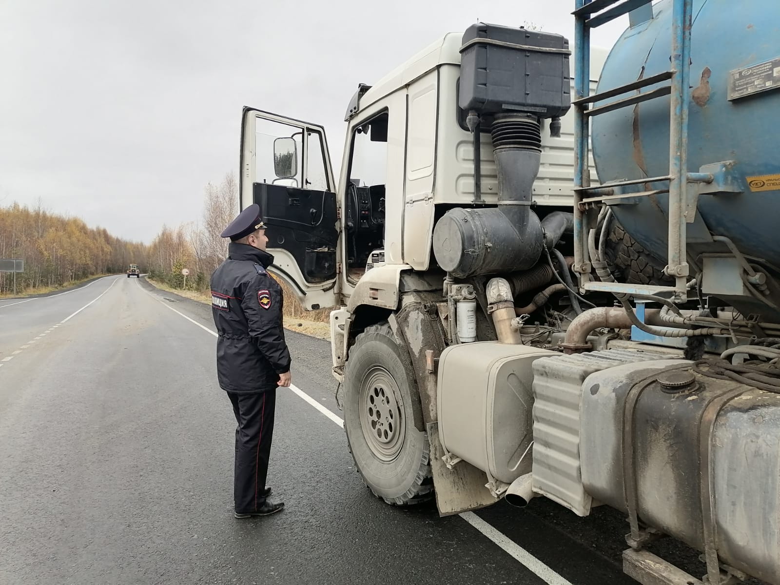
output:
<instances>
[{"instance_id":1,"label":"pale grey overcast sky above the trees and truck","mask_svg":"<svg viewBox=\"0 0 780 585\"><path fill-rule=\"evenodd\" d=\"M451 31L535 23L573 44L573 0L0 0L0 205L150 242L237 171L241 108L324 124ZM612 45L626 17L594 31ZM335 169L338 173L338 168Z\"/></svg>"}]
</instances>

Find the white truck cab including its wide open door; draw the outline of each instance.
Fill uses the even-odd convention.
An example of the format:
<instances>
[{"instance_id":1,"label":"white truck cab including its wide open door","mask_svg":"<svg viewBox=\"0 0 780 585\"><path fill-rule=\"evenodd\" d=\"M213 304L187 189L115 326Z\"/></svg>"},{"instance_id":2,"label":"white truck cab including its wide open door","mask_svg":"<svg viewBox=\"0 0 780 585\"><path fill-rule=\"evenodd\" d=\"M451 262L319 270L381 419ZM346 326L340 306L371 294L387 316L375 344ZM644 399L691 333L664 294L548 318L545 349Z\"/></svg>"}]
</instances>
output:
<instances>
[{"instance_id":1,"label":"white truck cab including its wide open door","mask_svg":"<svg viewBox=\"0 0 780 585\"><path fill-rule=\"evenodd\" d=\"M322 126L244 108L241 207L260 204L273 269L304 307L345 307L334 321L335 346L346 342L343 326L360 307L399 306L402 274L441 288L434 222L475 200L473 135L458 106L462 36L446 34L373 87L360 85L346 112L338 185ZM594 53L593 87L606 56ZM570 114L560 137L544 134L537 205L571 206L573 136ZM495 204L491 137L480 137L476 198ZM346 347L334 352L337 376L345 357Z\"/></svg>"}]
</instances>

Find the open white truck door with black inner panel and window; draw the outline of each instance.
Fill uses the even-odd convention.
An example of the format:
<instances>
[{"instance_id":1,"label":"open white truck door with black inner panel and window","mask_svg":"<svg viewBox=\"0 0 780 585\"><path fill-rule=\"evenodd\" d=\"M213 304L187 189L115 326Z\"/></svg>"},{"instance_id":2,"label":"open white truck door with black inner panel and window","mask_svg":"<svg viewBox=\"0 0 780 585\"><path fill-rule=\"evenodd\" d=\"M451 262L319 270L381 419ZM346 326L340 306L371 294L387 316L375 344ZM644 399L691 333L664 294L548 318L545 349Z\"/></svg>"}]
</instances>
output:
<instances>
[{"instance_id":1,"label":"open white truck door with black inner panel and window","mask_svg":"<svg viewBox=\"0 0 780 585\"><path fill-rule=\"evenodd\" d=\"M260 206L271 271L307 310L339 305L335 190L322 126L243 109L241 209Z\"/></svg>"}]
</instances>

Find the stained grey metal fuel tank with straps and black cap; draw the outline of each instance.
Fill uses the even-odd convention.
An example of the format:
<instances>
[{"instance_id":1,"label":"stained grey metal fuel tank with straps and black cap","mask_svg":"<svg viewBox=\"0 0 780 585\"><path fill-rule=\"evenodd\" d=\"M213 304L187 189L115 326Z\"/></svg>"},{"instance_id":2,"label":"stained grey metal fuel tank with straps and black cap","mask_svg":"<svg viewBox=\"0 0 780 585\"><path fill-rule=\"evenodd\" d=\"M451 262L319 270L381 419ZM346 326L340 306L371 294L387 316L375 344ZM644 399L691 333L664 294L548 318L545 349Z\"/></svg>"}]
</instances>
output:
<instances>
[{"instance_id":1,"label":"stained grey metal fuel tank with straps and black cap","mask_svg":"<svg viewBox=\"0 0 780 585\"><path fill-rule=\"evenodd\" d=\"M590 496L634 502L640 521L700 551L714 535L721 562L780 585L780 394L658 360L591 374L581 396Z\"/></svg>"}]
</instances>

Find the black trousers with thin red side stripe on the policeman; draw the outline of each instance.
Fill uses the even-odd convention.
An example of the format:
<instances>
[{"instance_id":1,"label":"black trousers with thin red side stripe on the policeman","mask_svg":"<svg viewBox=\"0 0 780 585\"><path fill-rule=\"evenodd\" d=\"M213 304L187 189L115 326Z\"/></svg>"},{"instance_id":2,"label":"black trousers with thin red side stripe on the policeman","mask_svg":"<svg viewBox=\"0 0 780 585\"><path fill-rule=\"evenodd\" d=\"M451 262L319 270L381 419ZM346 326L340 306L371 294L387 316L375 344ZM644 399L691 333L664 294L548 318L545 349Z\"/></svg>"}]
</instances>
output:
<instances>
[{"instance_id":1,"label":"black trousers with thin red side stripe on the policeman","mask_svg":"<svg viewBox=\"0 0 780 585\"><path fill-rule=\"evenodd\" d=\"M276 388L250 394L227 393L236 415L236 512L254 512L265 503L268 456L274 434Z\"/></svg>"}]
</instances>

